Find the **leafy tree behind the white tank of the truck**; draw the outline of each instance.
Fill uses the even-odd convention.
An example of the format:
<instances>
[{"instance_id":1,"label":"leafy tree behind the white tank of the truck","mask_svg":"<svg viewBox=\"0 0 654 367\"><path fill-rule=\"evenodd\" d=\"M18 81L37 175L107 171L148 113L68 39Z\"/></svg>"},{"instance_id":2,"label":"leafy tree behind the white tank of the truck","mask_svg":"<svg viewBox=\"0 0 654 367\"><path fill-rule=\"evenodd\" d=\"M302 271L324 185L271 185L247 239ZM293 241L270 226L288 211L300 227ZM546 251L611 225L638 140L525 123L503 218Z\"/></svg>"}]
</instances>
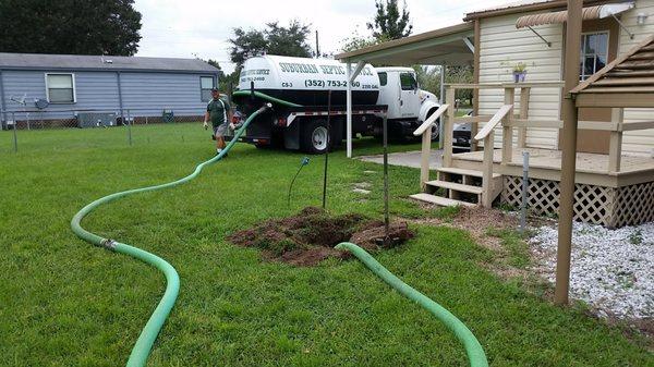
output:
<instances>
[{"instance_id":1,"label":"leafy tree behind the white tank of the truck","mask_svg":"<svg viewBox=\"0 0 654 367\"><path fill-rule=\"evenodd\" d=\"M247 58L270 53L279 56L291 56L308 58L313 56L307 44L311 33L310 26L291 21L288 27L280 26L278 22L267 23L266 28L244 30L233 28L234 37L229 41L232 44L230 59L240 70Z\"/></svg>"}]
</instances>

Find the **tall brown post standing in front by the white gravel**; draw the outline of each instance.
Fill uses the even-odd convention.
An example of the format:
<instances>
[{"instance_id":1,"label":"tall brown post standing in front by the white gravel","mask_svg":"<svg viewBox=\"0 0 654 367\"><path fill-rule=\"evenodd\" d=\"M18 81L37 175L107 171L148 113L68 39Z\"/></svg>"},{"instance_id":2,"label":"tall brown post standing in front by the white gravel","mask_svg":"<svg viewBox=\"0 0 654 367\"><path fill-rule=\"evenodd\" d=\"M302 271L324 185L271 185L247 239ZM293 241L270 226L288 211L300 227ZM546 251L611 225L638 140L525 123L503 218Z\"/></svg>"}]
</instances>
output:
<instances>
[{"instance_id":1,"label":"tall brown post standing in front by the white gravel","mask_svg":"<svg viewBox=\"0 0 654 367\"><path fill-rule=\"evenodd\" d=\"M579 84L579 51L581 48L581 11L583 1L568 0L566 24L565 98L561 103L564 115L561 181L559 198L558 247L556 252L556 285L554 303L568 304L570 288L570 253L572 243L572 219L574 218L574 173L577 170L578 110L570 90Z\"/></svg>"}]
</instances>

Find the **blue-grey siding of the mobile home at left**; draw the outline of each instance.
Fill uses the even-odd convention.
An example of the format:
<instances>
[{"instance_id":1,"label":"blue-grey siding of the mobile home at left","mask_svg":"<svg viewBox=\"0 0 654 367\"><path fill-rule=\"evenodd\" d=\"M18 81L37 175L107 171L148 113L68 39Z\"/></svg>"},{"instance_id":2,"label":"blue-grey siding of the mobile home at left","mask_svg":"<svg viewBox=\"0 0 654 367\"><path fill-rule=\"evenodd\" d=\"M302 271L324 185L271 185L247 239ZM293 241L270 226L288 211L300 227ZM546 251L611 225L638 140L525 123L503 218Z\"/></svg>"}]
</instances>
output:
<instances>
[{"instance_id":1,"label":"blue-grey siding of the mobile home at left","mask_svg":"<svg viewBox=\"0 0 654 367\"><path fill-rule=\"evenodd\" d=\"M0 74L4 91L4 109L16 111L15 119L24 119L24 108L11 100L12 97L26 96L26 109L35 110L35 99L47 99L45 74L50 71L3 70ZM121 72L119 93L118 72L116 71L61 71L75 75L74 103L50 103L38 113L38 119L72 119L75 112L94 110L120 114L122 95L123 111L130 110L132 117L160 117L162 111L172 110L177 115L199 115L204 113L206 102L201 100L199 77L214 76L211 73L153 73ZM5 119L10 119L5 117Z\"/></svg>"}]
</instances>

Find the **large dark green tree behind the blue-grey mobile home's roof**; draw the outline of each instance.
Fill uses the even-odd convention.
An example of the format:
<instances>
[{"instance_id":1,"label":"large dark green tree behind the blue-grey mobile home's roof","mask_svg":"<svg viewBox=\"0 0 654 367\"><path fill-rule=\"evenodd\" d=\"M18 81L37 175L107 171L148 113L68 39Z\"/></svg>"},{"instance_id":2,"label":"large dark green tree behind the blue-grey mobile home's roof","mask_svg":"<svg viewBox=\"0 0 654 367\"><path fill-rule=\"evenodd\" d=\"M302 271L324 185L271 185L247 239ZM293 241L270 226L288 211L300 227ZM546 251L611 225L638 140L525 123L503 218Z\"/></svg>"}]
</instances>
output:
<instances>
[{"instance_id":1,"label":"large dark green tree behind the blue-grey mobile home's roof","mask_svg":"<svg viewBox=\"0 0 654 367\"><path fill-rule=\"evenodd\" d=\"M0 50L132 56L141 13L134 0L0 0Z\"/></svg>"}]
</instances>

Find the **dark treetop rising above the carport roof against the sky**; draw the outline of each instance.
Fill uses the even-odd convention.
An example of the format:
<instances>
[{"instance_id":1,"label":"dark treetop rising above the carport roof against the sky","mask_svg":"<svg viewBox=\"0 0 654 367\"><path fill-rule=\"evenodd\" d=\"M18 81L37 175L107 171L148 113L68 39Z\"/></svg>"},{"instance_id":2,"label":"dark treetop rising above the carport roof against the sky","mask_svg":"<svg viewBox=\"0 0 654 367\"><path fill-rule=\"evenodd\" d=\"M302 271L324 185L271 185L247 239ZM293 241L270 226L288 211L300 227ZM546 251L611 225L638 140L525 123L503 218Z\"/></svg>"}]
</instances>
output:
<instances>
[{"instance_id":1,"label":"dark treetop rising above the carport roof against the sky","mask_svg":"<svg viewBox=\"0 0 654 367\"><path fill-rule=\"evenodd\" d=\"M404 2L402 11L398 0L375 0L377 13L373 23L367 23L367 28L373 32L376 39L398 39L411 34L413 25L409 20L409 11Z\"/></svg>"}]
</instances>

